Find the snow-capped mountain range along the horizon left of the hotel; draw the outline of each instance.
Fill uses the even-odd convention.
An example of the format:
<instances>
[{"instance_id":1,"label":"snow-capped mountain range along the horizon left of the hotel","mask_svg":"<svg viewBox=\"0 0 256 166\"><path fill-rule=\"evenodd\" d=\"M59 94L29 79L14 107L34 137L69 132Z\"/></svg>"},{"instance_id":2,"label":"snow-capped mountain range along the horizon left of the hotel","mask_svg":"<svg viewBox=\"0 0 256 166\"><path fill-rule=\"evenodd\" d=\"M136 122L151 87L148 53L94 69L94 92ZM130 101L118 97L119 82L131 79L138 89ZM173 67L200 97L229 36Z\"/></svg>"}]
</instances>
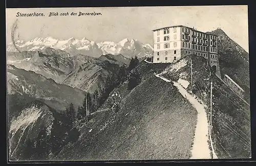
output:
<instances>
[{"instance_id":1,"label":"snow-capped mountain range along the horizon left of the hotel","mask_svg":"<svg viewBox=\"0 0 256 166\"><path fill-rule=\"evenodd\" d=\"M123 39L118 43L112 41L103 41L96 43L83 37L76 39L74 37L67 40L59 40L53 37L36 37L30 41L15 40L16 48L21 51L41 51L45 48L58 49L68 52L71 55L82 54L92 57L101 55L122 54L127 58L134 56L144 57L152 55L153 48L150 44L143 44L137 39ZM18 52L14 44L7 44L7 52Z\"/></svg>"}]
</instances>

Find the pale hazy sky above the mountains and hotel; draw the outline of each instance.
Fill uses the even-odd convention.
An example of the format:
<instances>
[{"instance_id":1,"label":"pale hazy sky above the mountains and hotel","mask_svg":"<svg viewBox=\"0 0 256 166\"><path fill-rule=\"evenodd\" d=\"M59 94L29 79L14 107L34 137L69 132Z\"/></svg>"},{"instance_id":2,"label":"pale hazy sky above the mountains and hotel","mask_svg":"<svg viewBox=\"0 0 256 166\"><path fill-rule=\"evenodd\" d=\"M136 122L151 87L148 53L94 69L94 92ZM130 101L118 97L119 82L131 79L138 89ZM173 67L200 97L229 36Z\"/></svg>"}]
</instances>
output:
<instances>
[{"instance_id":1,"label":"pale hazy sky above the mountains and hotel","mask_svg":"<svg viewBox=\"0 0 256 166\"><path fill-rule=\"evenodd\" d=\"M51 16L50 12L101 12L97 16ZM44 13L44 17L16 17L16 13ZM96 42L118 42L124 38L153 43L155 28L184 25L199 31L220 27L248 52L247 6L118 7L118 8L45 8L6 9L7 42L11 27L18 19L19 38L52 36L57 39L88 38Z\"/></svg>"}]
</instances>

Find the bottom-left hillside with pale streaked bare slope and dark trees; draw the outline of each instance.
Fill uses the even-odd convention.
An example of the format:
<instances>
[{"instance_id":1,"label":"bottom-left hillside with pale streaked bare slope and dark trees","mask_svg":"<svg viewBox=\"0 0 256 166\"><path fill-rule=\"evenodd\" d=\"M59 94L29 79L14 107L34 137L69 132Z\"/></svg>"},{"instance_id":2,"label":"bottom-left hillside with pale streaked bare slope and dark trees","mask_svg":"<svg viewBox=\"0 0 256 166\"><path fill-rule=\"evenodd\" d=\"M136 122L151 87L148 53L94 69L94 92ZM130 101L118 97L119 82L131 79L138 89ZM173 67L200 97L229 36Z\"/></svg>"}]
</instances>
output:
<instances>
[{"instance_id":1,"label":"bottom-left hillside with pale streaked bare slope and dark trees","mask_svg":"<svg viewBox=\"0 0 256 166\"><path fill-rule=\"evenodd\" d=\"M38 100L27 104L9 124L9 159L13 161L46 160L79 135L67 126L64 114Z\"/></svg>"}]
</instances>

